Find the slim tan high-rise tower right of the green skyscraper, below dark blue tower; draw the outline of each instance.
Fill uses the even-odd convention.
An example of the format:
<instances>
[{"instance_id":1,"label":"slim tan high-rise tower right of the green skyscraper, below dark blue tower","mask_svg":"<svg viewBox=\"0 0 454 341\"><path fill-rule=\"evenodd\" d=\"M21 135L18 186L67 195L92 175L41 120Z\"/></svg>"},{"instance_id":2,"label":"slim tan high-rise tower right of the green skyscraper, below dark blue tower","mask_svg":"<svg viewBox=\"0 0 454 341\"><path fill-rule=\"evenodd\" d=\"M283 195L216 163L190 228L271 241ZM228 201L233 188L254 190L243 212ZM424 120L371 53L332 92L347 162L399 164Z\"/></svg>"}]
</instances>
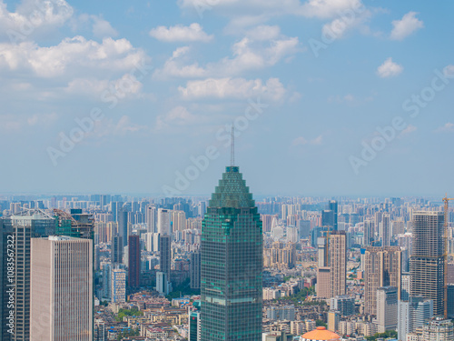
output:
<instances>
[{"instance_id":1,"label":"slim tan high-rise tower right of the green skyscraper, below dark blue tower","mask_svg":"<svg viewBox=\"0 0 454 341\"><path fill-rule=\"evenodd\" d=\"M347 293L347 237L333 231L330 237L331 297Z\"/></svg>"}]
</instances>

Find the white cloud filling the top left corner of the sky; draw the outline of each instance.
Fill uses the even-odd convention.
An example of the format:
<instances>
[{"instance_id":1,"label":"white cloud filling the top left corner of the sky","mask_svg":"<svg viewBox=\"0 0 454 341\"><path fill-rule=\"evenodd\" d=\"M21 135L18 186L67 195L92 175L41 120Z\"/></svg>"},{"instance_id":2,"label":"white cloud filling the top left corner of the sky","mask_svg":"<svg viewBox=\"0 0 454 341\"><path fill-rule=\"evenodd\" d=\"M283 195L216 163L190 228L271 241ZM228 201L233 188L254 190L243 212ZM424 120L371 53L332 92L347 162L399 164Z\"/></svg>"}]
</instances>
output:
<instances>
[{"instance_id":1,"label":"white cloud filling the top left corner of the sky","mask_svg":"<svg viewBox=\"0 0 454 341\"><path fill-rule=\"evenodd\" d=\"M9 37L13 43L22 42L37 31L64 25L73 14L73 7L64 0L25 0L13 13L0 0L0 36Z\"/></svg>"}]
</instances>

